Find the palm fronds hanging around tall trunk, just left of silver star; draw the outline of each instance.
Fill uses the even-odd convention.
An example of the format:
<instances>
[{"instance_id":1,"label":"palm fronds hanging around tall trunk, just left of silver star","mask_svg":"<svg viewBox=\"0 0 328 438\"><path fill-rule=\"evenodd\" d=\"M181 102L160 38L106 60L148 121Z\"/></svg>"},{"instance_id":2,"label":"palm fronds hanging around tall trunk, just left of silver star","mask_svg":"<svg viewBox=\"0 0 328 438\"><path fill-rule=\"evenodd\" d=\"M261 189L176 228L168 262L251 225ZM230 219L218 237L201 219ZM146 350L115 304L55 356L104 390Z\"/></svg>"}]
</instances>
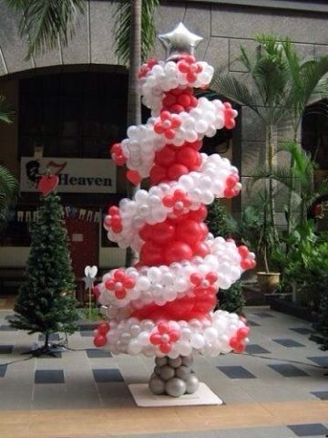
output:
<instances>
[{"instance_id":1,"label":"palm fronds hanging around tall trunk, just left of silver star","mask_svg":"<svg viewBox=\"0 0 328 438\"><path fill-rule=\"evenodd\" d=\"M159 0L144 0L141 8L141 58L145 60L154 46L156 29L154 12L159 6ZM115 39L117 46L115 53L121 64L128 65L130 57L130 26L131 1L119 0L115 16Z\"/></svg>"}]
</instances>

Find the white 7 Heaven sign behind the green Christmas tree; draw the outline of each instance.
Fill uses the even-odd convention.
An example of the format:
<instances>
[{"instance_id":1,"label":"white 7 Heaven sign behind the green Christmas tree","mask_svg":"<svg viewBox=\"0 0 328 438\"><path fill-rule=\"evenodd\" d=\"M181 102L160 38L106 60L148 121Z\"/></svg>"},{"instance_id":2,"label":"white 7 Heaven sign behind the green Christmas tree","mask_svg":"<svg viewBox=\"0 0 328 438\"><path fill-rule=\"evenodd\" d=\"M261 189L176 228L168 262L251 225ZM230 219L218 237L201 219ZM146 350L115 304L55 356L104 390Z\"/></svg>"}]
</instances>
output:
<instances>
[{"instance_id":1,"label":"white 7 Heaven sign behind the green Christmas tree","mask_svg":"<svg viewBox=\"0 0 328 438\"><path fill-rule=\"evenodd\" d=\"M21 158L20 191L36 192L46 170L57 175L61 193L116 193L116 165L112 160L88 158Z\"/></svg>"}]
</instances>

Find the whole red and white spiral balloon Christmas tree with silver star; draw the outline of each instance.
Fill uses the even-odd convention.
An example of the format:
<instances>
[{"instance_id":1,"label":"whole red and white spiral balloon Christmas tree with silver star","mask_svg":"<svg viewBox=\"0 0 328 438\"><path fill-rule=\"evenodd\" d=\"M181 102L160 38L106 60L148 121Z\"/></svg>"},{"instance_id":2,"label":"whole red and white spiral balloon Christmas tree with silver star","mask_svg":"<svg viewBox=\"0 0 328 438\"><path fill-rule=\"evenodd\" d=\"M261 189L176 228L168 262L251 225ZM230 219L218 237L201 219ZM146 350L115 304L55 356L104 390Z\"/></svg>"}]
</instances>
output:
<instances>
[{"instance_id":1,"label":"whole red and white spiral balloon Christmas tree with silver star","mask_svg":"<svg viewBox=\"0 0 328 438\"><path fill-rule=\"evenodd\" d=\"M113 145L112 158L126 164L130 181L149 177L149 191L111 206L108 238L139 253L136 266L114 269L97 287L108 317L95 345L114 354L156 357L150 391L171 396L197 391L192 354L241 352L249 328L243 318L215 311L219 288L229 288L255 266L254 255L233 240L214 238L204 219L215 198L241 191L238 171L218 154L200 153L201 141L232 129L237 111L219 99L197 99L213 68L197 61L199 36L182 24L159 36L166 61L150 60L138 78L143 103L151 110L145 125L130 126L128 138Z\"/></svg>"}]
</instances>

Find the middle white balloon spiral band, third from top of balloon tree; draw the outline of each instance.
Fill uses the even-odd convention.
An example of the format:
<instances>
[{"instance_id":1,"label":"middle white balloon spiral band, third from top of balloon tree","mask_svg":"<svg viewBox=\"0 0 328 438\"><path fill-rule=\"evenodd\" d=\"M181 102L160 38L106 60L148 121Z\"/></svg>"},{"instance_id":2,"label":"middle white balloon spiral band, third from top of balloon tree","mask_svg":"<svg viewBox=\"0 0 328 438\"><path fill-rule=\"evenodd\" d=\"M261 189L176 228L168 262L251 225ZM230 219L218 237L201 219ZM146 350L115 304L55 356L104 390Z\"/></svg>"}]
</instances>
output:
<instances>
[{"instance_id":1,"label":"middle white balloon spiral band, third from top of balloon tree","mask_svg":"<svg viewBox=\"0 0 328 438\"><path fill-rule=\"evenodd\" d=\"M232 183L233 195L241 190L238 170L231 166L226 158L214 153L210 156L201 154L202 164L199 172L190 172L179 177L178 182L160 183L146 190L138 190L133 200L127 198L119 202L118 215L121 220L121 231L115 233L111 226L111 216L105 218L104 226L108 231L108 239L117 242L122 248L131 246L139 251L143 241L138 231L145 224L158 224L174 213L175 205L166 206L163 200L166 196L174 196L179 190L185 193L189 200L188 207L181 201L181 214L195 211L200 205L209 205L215 198L227 197L227 185ZM229 187L228 187L229 188ZM179 206L179 204L178 204Z\"/></svg>"}]
</instances>

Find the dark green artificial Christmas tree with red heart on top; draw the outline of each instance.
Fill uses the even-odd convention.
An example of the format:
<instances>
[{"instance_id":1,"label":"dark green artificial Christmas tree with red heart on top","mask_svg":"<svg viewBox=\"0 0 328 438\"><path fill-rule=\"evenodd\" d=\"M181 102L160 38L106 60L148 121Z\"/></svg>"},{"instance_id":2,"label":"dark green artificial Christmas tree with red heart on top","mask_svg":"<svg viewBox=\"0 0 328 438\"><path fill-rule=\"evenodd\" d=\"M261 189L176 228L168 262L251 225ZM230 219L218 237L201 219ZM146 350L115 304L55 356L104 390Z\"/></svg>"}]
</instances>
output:
<instances>
[{"instance_id":1,"label":"dark green artificial Christmas tree with red heart on top","mask_svg":"<svg viewBox=\"0 0 328 438\"><path fill-rule=\"evenodd\" d=\"M52 177L42 178L48 178L46 183L51 185ZM59 196L51 190L44 192L48 194L42 196L36 222L31 226L26 281L16 298L15 318L10 321L13 327L27 330L29 334L44 335L45 344L33 351L36 355L51 354L50 334L73 333L78 318L63 209Z\"/></svg>"}]
</instances>

